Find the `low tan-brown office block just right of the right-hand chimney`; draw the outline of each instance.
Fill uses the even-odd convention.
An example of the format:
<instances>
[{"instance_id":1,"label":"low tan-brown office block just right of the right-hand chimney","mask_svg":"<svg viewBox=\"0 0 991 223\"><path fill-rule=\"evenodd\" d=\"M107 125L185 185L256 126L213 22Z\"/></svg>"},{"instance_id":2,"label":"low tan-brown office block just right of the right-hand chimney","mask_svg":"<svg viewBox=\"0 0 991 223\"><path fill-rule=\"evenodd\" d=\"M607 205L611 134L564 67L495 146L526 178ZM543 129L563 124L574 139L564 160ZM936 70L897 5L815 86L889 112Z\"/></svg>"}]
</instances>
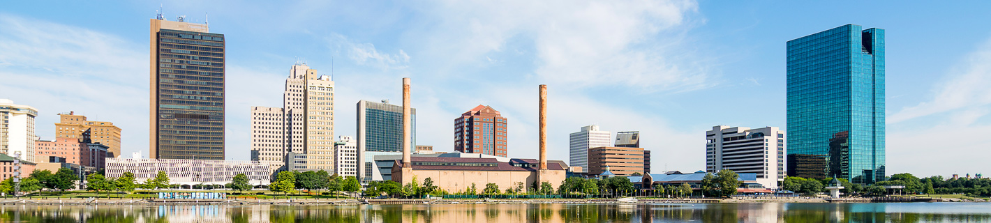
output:
<instances>
[{"instance_id":1,"label":"low tan-brown office block just right of the right-hand chimney","mask_svg":"<svg viewBox=\"0 0 991 223\"><path fill-rule=\"evenodd\" d=\"M589 149L589 174L607 170L616 175L643 174L643 148L598 147Z\"/></svg>"}]
</instances>

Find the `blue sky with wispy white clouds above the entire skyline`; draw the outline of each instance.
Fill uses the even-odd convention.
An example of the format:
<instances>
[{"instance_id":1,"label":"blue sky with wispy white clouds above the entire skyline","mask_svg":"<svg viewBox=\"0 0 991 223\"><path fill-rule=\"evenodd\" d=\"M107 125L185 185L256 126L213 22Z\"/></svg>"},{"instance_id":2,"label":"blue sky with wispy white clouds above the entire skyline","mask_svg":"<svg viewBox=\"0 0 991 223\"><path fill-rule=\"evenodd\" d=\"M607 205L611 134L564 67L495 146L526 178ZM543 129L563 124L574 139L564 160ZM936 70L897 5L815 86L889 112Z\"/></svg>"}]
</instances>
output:
<instances>
[{"instance_id":1,"label":"blue sky with wispy white clouds above the entire skyline","mask_svg":"<svg viewBox=\"0 0 991 223\"><path fill-rule=\"evenodd\" d=\"M148 152L149 19L185 15L227 38L227 157L248 160L251 106L279 106L297 57L330 74L337 135L358 100L399 101L413 81L417 143L453 150L479 104L509 120L509 156L536 157L537 85L549 86L550 159L598 124L641 131L653 171L705 167L714 125L784 128L785 42L857 24L887 30L889 173L991 172L988 2L6 1L0 98L76 111ZM331 64L333 62L333 65Z\"/></svg>"}]
</instances>

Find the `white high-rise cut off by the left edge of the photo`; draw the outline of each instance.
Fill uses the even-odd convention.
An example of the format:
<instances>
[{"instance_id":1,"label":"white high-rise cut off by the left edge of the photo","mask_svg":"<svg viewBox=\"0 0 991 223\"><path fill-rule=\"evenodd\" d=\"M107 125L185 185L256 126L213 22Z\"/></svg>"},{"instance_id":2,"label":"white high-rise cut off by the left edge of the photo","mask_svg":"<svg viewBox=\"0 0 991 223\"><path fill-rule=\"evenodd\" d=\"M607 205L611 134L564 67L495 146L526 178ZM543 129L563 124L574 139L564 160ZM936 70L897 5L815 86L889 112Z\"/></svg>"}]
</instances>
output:
<instances>
[{"instance_id":1,"label":"white high-rise cut off by the left edge of the photo","mask_svg":"<svg viewBox=\"0 0 991 223\"><path fill-rule=\"evenodd\" d=\"M35 163L35 117L38 109L0 99L0 152Z\"/></svg>"}]
</instances>

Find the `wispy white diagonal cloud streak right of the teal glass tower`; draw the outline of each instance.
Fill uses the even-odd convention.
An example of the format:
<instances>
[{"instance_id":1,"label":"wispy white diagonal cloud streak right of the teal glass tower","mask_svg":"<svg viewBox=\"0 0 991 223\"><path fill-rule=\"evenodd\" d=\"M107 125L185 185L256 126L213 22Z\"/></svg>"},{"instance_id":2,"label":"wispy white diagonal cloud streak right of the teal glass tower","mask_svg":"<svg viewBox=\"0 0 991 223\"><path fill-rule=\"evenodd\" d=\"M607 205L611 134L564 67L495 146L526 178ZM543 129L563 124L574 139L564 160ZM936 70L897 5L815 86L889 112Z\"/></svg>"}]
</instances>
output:
<instances>
[{"instance_id":1,"label":"wispy white diagonal cloud streak right of the teal glass tower","mask_svg":"<svg viewBox=\"0 0 991 223\"><path fill-rule=\"evenodd\" d=\"M991 104L991 40L964 59L947 72L947 80L934 87L932 100L903 108L888 123Z\"/></svg>"}]
</instances>

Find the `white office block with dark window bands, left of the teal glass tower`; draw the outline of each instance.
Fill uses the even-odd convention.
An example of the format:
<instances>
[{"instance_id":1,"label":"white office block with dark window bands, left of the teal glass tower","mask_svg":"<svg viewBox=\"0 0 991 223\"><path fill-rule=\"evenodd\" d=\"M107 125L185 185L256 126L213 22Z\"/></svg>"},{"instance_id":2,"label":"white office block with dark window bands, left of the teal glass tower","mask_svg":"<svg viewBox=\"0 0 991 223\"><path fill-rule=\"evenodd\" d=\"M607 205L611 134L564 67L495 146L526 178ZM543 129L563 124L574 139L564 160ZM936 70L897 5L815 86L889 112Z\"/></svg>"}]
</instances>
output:
<instances>
[{"instance_id":1,"label":"white office block with dark window bands, left of the teal glass tower","mask_svg":"<svg viewBox=\"0 0 991 223\"><path fill-rule=\"evenodd\" d=\"M757 174L757 182L778 188L785 180L785 131L778 127L714 126L706 131L706 171Z\"/></svg>"}]
</instances>

